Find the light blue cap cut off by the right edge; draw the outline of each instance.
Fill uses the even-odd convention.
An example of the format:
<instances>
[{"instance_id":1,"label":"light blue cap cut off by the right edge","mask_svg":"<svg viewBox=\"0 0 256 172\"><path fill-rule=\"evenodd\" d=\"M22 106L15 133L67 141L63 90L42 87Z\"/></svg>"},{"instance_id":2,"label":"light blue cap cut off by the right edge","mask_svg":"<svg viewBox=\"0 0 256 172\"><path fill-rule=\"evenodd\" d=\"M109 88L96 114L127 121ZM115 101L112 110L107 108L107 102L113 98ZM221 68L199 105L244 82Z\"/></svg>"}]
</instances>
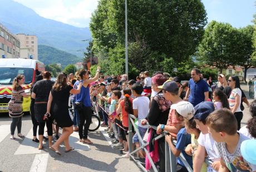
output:
<instances>
[{"instance_id":1,"label":"light blue cap cut off by the right edge","mask_svg":"<svg viewBox=\"0 0 256 172\"><path fill-rule=\"evenodd\" d=\"M240 146L243 158L251 164L256 165L256 140L244 140Z\"/></svg>"}]
</instances>

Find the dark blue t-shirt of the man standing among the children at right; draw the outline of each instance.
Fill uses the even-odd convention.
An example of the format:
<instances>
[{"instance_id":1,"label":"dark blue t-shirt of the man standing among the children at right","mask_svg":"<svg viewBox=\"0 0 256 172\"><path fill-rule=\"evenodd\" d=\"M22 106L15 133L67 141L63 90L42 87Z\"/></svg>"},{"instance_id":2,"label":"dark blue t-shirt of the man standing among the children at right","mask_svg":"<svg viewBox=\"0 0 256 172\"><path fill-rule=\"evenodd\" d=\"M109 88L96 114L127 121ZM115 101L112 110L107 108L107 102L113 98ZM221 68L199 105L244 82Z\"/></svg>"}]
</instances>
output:
<instances>
[{"instance_id":1,"label":"dark blue t-shirt of the man standing among the children at right","mask_svg":"<svg viewBox=\"0 0 256 172\"><path fill-rule=\"evenodd\" d=\"M195 105L204 102L204 93L209 92L208 84L205 80L200 79L198 82L194 82L193 79L189 80L189 102Z\"/></svg>"}]
</instances>

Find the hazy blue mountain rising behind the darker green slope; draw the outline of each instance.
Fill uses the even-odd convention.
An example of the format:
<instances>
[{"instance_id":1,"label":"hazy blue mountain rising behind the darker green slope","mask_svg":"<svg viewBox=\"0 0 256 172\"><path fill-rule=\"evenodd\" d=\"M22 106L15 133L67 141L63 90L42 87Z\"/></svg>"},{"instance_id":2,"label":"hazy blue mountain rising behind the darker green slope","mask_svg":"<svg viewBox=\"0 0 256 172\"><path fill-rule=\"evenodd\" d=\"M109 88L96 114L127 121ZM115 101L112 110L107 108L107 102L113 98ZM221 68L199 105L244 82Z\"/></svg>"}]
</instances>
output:
<instances>
[{"instance_id":1,"label":"hazy blue mountain rising behind the darker green slope","mask_svg":"<svg viewBox=\"0 0 256 172\"><path fill-rule=\"evenodd\" d=\"M81 40L91 38L88 27L78 28L43 18L31 8L12 0L0 0L0 4L0 23L13 34L36 35L38 45L47 45L77 55L77 50L85 49L88 45L88 42ZM38 54L39 56L40 54ZM60 59L59 62L62 60Z\"/></svg>"}]
</instances>

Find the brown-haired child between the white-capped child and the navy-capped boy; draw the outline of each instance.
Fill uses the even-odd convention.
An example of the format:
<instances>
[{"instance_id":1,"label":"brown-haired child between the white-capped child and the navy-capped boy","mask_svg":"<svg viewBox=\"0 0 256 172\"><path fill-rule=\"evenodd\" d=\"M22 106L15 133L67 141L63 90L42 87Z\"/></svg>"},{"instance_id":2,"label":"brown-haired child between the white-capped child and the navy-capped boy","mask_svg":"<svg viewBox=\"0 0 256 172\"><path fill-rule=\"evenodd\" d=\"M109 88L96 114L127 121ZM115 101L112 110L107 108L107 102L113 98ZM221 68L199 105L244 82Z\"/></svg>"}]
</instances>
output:
<instances>
[{"instance_id":1,"label":"brown-haired child between the white-capped child and the navy-capped boy","mask_svg":"<svg viewBox=\"0 0 256 172\"><path fill-rule=\"evenodd\" d=\"M190 120L185 120L185 129L188 134L191 134L191 144L186 146L185 152L186 154L193 156L193 159L194 159L195 152L198 149L198 138L200 135L200 130L196 128L196 123L194 118ZM206 172L206 171L207 171L207 164L204 163L201 168L201 172Z\"/></svg>"}]
</instances>

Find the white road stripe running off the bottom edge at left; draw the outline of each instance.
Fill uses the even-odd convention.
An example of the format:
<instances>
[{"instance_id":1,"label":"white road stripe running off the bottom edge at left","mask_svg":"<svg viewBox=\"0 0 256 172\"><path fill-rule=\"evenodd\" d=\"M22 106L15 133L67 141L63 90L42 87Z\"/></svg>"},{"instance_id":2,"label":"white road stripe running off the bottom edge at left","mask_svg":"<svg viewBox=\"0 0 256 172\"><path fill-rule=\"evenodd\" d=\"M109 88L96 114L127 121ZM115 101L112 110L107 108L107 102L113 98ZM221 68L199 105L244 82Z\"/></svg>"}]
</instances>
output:
<instances>
[{"instance_id":1,"label":"white road stripe running off the bottom edge at left","mask_svg":"<svg viewBox=\"0 0 256 172\"><path fill-rule=\"evenodd\" d=\"M36 154L29 172L46 172L49 154Z\"/></svg>"}]
</instances>

